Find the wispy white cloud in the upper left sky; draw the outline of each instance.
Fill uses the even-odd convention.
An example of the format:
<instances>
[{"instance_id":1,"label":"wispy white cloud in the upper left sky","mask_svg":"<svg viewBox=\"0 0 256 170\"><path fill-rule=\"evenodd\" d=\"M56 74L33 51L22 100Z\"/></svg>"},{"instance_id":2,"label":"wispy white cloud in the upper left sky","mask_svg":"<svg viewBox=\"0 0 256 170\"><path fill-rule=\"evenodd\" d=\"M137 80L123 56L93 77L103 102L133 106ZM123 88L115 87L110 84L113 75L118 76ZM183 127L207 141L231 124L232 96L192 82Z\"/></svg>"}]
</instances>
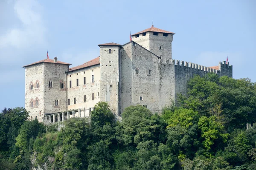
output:
<instances>
[{"instance_id":1,"label":"wispy white cloud in the upper left sky","mask_svg":"<svg viewBox=\"0 0 256 170\"><path fill-rule=\"evenodd\" d=\"M41 6L36 0L15 1L12 12L16 14L21 26L20 28L9 28L0 34L0 49L8 47L23 49L32 45L44 44L46 28L39 13L40 9ZM10 20L15 21L14 18L10 18Z\"/></svg>"}]
</instances>

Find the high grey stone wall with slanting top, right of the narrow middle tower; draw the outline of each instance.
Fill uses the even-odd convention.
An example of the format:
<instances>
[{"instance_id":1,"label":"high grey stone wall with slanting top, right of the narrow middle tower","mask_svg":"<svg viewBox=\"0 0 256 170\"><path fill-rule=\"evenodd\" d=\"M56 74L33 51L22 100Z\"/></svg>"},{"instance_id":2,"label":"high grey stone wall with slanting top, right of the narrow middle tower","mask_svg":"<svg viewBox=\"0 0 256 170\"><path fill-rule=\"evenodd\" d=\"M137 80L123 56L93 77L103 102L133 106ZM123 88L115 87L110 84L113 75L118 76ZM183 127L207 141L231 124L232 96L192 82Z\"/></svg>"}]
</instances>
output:
<instances>
[{"instance_id":1,"label":"high grey stone wall with slanting top, right of the narrow middle tower","mask_svg":"<svg viewBox=\"0 0 256 170\"><path fill-rule=\"evenodd\" d=\"M159 111L160 58L134 42L124 45L121 54L121 112L138 104Z\"/></svg>"}]
</instances>

